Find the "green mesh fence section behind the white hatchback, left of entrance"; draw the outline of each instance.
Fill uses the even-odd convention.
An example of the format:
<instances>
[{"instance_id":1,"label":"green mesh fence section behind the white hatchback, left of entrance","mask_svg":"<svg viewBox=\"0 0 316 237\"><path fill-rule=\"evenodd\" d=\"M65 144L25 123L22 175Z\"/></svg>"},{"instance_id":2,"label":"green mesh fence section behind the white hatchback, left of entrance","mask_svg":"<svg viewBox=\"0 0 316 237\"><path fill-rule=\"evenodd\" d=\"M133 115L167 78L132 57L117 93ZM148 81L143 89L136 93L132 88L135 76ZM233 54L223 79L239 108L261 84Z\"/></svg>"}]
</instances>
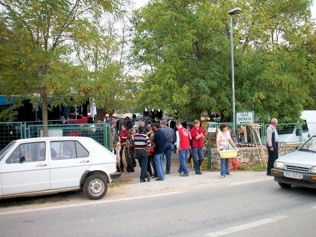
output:
<instances>
[{"instance_id":1,"label":"green mesh fence section behind the white hatchback, left of entrance","mask_svg":"<svg viewBox=\"0 0 316 237\"><path fill-rule=\"evenodd\" d=\"M113 148L113 136L110 123L89 124L50 124L49 136L85 136L99 142L105 148ZM22 139L43 136L43 125L40 123L5 122L0 123L0 149L9 142Z\"/></svg>"}]
</instances>

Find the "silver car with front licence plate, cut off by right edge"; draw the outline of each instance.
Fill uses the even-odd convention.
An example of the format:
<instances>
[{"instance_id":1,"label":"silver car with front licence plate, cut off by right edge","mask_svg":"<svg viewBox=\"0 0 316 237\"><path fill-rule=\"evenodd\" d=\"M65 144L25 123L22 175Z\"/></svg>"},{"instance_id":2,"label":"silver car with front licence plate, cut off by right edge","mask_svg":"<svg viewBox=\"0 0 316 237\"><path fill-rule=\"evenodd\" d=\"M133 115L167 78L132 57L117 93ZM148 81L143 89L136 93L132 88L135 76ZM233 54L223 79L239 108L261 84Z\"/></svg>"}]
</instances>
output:
<instances>
[{"instance_id":1,"label":"silver car with front licence plate, cut off by right edge","mask_svg":"<svg viewBox=\"0 0 316 237\"><path fill-rule=\"evenodd\" d=\"M283 188L292 185L316 188L316 135L295 152L278 158L271 175Z\"/></svg>"}]
</instances>

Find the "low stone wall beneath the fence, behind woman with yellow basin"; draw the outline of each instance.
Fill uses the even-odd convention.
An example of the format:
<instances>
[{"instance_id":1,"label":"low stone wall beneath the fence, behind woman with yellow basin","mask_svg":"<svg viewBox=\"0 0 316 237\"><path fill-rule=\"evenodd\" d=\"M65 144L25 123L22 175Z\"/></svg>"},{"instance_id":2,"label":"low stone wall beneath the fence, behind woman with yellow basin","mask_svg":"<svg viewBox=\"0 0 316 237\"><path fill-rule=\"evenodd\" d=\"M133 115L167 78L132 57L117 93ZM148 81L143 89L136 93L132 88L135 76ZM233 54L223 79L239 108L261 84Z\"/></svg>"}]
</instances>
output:
<instances>
[{"instance_id":1,"label":"low stone wall beneath the fence, behind woman with yellow basin","mask_svg":"<svg viewBox=\"0 0 316 237\"><path fill-rule=\"evenodd\" d=\"M298 145L286 145L279 147L279 157L285 155L290 152L294 152ZM252 165L260 165L260 158L263 163L263 151L265 153L266 158L268 158L268 150L263 147L263 151L261 147L238 147L238 156L236 157L242 167L252 166ZM264 163L263 163L264 164ZM211 149L211 169L220 169L221 160L218 155L217 149Z\"/></svg>"}]
</instances>

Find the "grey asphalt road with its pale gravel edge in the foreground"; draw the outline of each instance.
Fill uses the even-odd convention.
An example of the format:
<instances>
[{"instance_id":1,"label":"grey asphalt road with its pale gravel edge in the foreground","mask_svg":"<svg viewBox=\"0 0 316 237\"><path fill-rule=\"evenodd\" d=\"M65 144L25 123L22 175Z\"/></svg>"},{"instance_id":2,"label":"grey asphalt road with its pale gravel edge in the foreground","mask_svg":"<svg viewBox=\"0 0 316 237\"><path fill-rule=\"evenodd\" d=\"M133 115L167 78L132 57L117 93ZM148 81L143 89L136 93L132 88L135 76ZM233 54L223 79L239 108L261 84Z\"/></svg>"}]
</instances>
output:
<instances>
[{"instance_id":1,"label":"grey asphalt road with its pale gravel edge in the foreground","mask_svg":"<svg viewBox=\"0 0 316 237\"><path fill-rule=\"evenodd\" d=\"M224 179L218 172L190 173L189 177L173 173L164 182L109 188L100 201L87 201L76 192L62 196L60 202L42 198L43 203L37 204L7 203L0 207L0 233L23 237L314 236L315 198L315 189L283 189L264 172L235 172Z\"/></svg>"}]
</instances>

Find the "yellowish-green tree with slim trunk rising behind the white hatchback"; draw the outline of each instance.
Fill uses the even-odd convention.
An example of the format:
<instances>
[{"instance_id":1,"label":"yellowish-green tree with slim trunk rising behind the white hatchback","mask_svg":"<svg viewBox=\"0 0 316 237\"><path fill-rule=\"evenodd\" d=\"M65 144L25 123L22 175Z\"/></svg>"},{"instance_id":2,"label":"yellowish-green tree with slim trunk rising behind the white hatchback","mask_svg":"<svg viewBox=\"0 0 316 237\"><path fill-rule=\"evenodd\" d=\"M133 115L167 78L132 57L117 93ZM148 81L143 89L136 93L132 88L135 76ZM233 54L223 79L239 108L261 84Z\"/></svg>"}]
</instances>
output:
<instances>
[{"instance_id":1,"label":"yellowish-green tree with slim trunk rising behind the white hatchback","mask_svg":"<svg viewBox=\"0 0 316 237\"><path fill-rule=\"evenodd\" d=\"M94 74L74 60L77 51L99 38L95 22L103 12L122 16L121 0L0 0L1 92L37 102L43 125L57 104L78 104L88 97ZM78 96L79 95L79 96ZM48 135L47 127L43 129Z\"/></svg>"}]
</instances>

